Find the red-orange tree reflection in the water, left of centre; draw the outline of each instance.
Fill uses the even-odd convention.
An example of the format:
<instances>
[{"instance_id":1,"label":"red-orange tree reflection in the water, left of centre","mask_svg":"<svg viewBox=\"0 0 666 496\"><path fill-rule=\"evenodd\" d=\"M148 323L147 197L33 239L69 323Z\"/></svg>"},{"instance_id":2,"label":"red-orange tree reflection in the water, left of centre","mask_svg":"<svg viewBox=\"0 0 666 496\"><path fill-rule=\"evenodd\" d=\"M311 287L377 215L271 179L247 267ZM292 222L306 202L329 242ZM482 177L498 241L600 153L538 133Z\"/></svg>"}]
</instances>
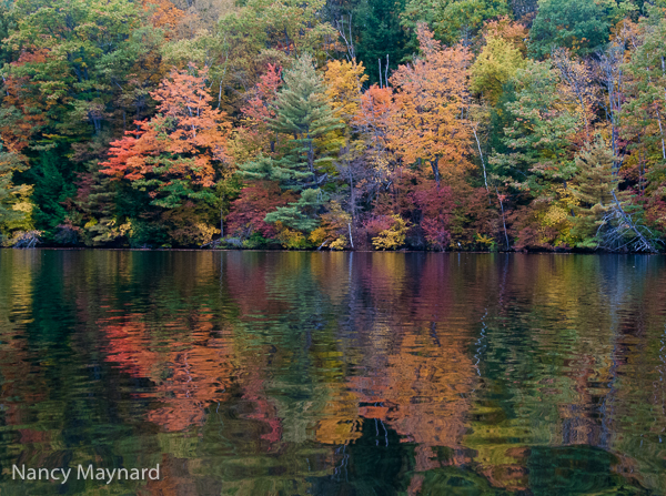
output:
<instances>
[{"instance_id":1,"label":"red-orange tree reflection in the water, left of centre","mask_svg":"<svg viewBox=\"0 0 666 496\"><path fill-rule=\"evenodd\" d=\"M224 397L231 383L232 344L226 337L211 337L210 314L190 315L191 334L160 344L164 337L151 332L140 315L105 318L100 328L109 338L107 361L135 377L148 377L163 405L149 419L167 431L182 431L202 424L205 408ZM192 323L192 318L198 318Z\"/></svg>"}]
</instances>

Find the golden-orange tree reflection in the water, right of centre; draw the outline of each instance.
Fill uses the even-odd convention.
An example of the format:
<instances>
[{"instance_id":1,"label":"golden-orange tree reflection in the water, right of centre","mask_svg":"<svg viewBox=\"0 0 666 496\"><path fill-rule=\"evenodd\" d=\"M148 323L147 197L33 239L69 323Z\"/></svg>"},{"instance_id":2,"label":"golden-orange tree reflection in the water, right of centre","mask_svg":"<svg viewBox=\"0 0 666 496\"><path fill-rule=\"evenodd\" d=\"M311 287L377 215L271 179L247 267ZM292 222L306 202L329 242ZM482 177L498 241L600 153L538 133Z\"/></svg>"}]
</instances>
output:
<instances>
[{"instance_id":1,"label":"golden-orange tree reflection in the water, right of centre","mask_svg":"<svg viewBox=\"0 0 666 496\"><path fill-rule=\"evenodd\" d=\"M465 434L474 367L464 343L451 335L437 338L430 330L411 330L386 366L366 376L350 377L350 387L366 405L361 414L386 422L405 441L418 444L416 469L432 468L432 448L461 448ZM456 451L454 463L465 462Z\"/></svg>"}]
</instances>

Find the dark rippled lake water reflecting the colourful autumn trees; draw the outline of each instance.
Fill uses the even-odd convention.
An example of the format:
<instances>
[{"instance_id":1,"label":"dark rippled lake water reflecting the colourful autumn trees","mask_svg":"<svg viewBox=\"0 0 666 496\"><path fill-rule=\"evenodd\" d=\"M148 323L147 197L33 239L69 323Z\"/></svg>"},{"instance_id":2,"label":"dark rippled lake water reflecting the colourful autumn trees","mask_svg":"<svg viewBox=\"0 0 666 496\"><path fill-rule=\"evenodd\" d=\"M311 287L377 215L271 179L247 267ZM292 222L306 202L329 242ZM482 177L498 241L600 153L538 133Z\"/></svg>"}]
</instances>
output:
<instances>
[{"instance_id":1,"label":"dark rippled lake water reflecting the colourful autumn trees","mask_svg":"<svg viewBox=\"0 0 666 496\"><path fill-rule=\"evenodd\" d=\"M663 495L665 283L659 256L0 251L0 494Z\"/></svg>"}]
</instances>

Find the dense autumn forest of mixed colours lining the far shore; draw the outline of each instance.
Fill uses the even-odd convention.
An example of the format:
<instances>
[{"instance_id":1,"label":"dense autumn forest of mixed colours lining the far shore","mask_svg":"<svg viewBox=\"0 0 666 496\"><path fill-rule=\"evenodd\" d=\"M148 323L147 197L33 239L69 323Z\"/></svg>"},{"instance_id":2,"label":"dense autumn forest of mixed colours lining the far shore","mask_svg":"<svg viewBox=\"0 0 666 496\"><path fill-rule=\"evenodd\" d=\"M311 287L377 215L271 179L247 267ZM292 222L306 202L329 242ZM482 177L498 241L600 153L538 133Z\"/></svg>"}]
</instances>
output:
<instances>
[{"instance_id":1,"label":"dense autumn forest of mixed colours lining the far shore","mask_svg":"<svg viewBox=\"0 0 666 496\"><path fill-rule=\"evenodd\" d=\"M664 0L0 0L0 39L3 246L664 249Z\"/></svg>"}]
</instances>

